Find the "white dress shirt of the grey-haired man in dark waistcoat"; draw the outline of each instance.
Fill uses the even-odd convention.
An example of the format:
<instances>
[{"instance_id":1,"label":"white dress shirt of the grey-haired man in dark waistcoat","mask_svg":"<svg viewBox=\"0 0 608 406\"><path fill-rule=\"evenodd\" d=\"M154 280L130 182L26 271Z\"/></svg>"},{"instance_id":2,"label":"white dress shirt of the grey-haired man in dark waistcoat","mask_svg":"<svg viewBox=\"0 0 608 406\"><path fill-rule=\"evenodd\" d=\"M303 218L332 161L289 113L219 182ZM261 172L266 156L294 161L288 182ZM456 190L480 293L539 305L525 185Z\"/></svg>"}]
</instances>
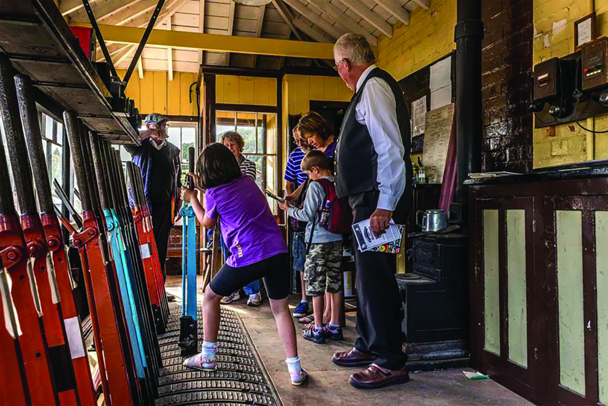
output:
<instances>
[{"instance_id":1,"label":"white dress shirt of the grey-haired man in dark waistcoat","mask_svg":"<svg viewBox=\"0 0 608 406\"><path fill-rule=\"evenodd\" d=\"M376 68L371 65L357 81L357 90ZM355 118L367 126L376 154L378 154L378 198L377 208L393 212L406 188L406 163L401 131L397 122L396 101L388 83L381 78L371 78L365 84Z\"/></svg>"}]
</instances>

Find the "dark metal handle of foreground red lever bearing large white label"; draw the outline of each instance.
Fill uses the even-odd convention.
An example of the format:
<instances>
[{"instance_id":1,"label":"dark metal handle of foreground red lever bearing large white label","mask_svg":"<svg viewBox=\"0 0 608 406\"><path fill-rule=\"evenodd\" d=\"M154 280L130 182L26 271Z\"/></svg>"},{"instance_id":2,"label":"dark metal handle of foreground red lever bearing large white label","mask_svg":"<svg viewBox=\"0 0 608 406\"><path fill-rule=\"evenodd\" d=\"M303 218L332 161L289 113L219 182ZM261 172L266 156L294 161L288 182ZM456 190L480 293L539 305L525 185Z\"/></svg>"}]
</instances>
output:
<instances>
[{"instance_id":1,"label":"dark metal handle of foreground red lever bearing large white label","mask_svg":"<svg viewBox=\"0 0 608 406\"><path fill-rule=\"evenodd\" d=\"M38 121L38 109L34 99L32 80L26 75L15 76L15 88L19 100L19 111L21 112L21 122L23 132L27 140L29 149L30 163L36 191L38 192L38 204L41 213L53 213L53 194L50 190L49 171L44 158L42 146L42 135L40 132L40 122Z\"/></svg>"}]
</instances>

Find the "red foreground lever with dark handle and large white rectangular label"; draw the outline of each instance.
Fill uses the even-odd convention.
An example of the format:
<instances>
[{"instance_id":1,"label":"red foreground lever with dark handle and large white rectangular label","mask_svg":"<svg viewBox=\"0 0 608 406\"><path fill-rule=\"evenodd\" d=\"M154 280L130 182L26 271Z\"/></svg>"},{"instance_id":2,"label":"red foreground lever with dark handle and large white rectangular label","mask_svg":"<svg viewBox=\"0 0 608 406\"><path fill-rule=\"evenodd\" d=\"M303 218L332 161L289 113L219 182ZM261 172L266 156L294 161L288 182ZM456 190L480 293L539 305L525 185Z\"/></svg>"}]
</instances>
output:
<instances>
[{"instance_id":1,"label":"red foreground lever with dark handle and large white rectangular label","mask_svg":"<svg viewBox=\"0 0 608 406\"><path fill-rule=\"evenodd\" d=\"M85 343L80 326L81 320L78 317L74 304L74 297L72 295L72 286L74 283L67 261L66 247L63 243L63 236L61 235L61 228L57 215L55 215L54 212L49 174L44 159L40 123L38 122L38 111L36 110L36 103L33 97L32 82L26 75L17 75L15 77L15 84L24 134L29 148L30 162L32 163L34 179L36 181L36 190L38 191L38 205L40 206L41 222L46 238L48 250L48 258L46 261L48 265L47 272L49 272L49 277L52 277L54 268L55 278L57 279L58 295L57 314L55 317L50 318L51 311L55 310L54 306L52 306L54 301L49 301L50 297L47 297L46 305L48 306L49 311L44 309L44 300L42 303L45 329L46 331L49 331L53 322L58 322L60 324L63 322L63 329L58 329L58 327L55 326L55 329L57 329L56 333L58 334L61 331L62 334L58 337L51 337L49 332L47 332L47 342L49 342L50 347L53 346L53 342L55 342L55 345L65 345L66 342L69 344L69 357L72 361L80 404L95 405L97 396L95 396L91 370L85 351ZM25 157L27 157L27 153L26 151L22 151L22 155L19 154L19 159ZM42 296L43 295L41 294L41 297ZM47 316L49 316L50 320L49 318L46 318ZM53 350L51 349L51 351ZM67 353L64 355L67 355ZM72 377L71 374L69 374L70 371L67 369L66 365L64 365L62 376L63 379L69 381ZM62 398L60 400L62 404L69 404L71 402L71 399Z\"/></svg>"}]
</instances>

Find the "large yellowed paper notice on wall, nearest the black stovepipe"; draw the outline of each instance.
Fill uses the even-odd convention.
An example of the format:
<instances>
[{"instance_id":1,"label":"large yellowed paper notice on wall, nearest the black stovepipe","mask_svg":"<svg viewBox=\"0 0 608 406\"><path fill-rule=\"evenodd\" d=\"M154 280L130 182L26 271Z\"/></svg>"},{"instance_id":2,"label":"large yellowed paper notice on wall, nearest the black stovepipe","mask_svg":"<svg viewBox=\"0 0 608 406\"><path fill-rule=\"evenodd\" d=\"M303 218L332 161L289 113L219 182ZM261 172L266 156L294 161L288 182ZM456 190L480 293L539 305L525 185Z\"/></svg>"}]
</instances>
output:
<instances>
[{"instance_id":1,"label":"large yellowed paper notice on wall, nearest the black stovepipe","mask_svg":"<svg viewBox=\"0 0 608 406\"><path fill-rule=\"evenodd\" d=\"M424 172L430 183L443 181L447 147L452 130L452 117L454 117L453 104L431 110L426 114L423 159Z\"/></svg>"}]
</instances>

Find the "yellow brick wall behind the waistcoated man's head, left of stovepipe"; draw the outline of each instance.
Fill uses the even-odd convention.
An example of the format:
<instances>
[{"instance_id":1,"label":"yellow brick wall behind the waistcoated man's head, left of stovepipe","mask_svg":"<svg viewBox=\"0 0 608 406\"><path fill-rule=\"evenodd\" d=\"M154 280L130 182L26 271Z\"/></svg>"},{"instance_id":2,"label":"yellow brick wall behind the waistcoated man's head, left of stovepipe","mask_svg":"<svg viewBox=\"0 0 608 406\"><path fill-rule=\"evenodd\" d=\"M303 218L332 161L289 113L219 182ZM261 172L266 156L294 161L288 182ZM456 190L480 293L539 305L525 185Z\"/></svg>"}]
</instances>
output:
<instances>
[{"instance_id":1,"label":"yellow brick wall behind the waistcoated man's head, left of stovepipe","mask_svg":"<svg viewBox=\"0 0 608 406\"><path fill-rule=\"evenodd\" d=\"M428 11L416 7L409 26L397 22L393 38L378 38L376 64L400 80L456 49L455 25L455 0L432 0Z\"/></svg>"}]
</instances>

